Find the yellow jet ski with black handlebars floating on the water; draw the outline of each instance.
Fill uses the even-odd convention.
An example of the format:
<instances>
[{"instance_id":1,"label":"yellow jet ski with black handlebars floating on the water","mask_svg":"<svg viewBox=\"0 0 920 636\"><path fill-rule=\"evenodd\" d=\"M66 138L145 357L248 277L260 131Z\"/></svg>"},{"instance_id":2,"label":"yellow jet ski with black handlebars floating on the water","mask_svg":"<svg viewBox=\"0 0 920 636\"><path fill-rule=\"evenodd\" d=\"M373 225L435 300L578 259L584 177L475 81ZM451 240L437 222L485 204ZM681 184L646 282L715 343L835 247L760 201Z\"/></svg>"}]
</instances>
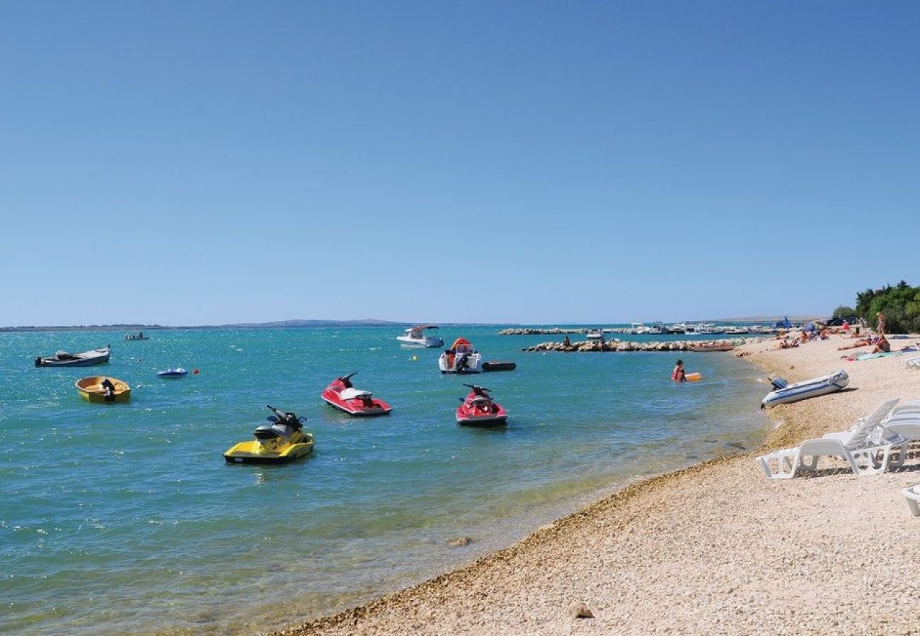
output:
<instances>
[{"instance_id":1,"label":"yellow jet ski with black handlebars floating on the water","mask_svg":"<svg viewBox=\"0 0 920 636\"><path fill-rule=\"evenodd\" d=\"M275 414L268 417L271 424L256 428L253 441L240 442L227 450L224 453L227 463L286 464L313 450L313 434L304 432L305 417L285 413L271 404L268 407Z\"/></svg>"}]
</instances>

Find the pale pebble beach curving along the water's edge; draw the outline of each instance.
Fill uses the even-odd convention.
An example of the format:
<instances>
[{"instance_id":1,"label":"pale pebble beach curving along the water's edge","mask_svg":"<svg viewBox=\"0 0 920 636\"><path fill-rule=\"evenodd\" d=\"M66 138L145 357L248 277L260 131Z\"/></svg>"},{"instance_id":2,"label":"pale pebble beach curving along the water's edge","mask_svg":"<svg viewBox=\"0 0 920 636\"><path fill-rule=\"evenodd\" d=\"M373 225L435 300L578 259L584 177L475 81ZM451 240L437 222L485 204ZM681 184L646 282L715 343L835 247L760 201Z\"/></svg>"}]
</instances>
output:
<instances>
[{"instance_id":1,"label":"pale pebble beach curving along the water's edge","mask_svg":"<svg viewBox=\"0 0 920 636\"><path fill-rule=\"evenodd\" d=\"M865 478L822 460L814 477L782 481L766 480L753 459L843 430L883 399L920 398L920 370L903 364L917 354L848 362L836 350L848 342L742 347L790 381L850 374L848 391L772 409L777 427L762 449L632 484L466 567L277 633L920 630L912 562L920 519L899 493L920 482L920 456ZM593 618L571 618L575 602Z\"/></svg>"}]
</instances>

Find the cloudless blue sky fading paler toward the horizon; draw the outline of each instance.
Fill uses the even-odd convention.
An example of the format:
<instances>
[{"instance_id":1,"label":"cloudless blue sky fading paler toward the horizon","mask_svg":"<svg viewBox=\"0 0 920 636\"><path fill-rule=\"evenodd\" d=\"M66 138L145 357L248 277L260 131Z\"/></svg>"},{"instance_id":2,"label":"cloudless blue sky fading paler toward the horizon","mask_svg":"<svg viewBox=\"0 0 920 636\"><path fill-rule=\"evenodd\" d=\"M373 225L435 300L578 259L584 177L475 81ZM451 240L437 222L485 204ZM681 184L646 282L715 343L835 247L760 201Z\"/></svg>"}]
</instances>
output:
<instances>
[{"instance_id":1,"label":"cloudless blue sky fading paler toward the horizon","mask_svg":"<svg viewBox=\"0 0 920 636\"><path fill-rule=\"evenodd\" d=\"M920 284L920 3L0 0L0 325Z\"/></svg>"}]
</instances>

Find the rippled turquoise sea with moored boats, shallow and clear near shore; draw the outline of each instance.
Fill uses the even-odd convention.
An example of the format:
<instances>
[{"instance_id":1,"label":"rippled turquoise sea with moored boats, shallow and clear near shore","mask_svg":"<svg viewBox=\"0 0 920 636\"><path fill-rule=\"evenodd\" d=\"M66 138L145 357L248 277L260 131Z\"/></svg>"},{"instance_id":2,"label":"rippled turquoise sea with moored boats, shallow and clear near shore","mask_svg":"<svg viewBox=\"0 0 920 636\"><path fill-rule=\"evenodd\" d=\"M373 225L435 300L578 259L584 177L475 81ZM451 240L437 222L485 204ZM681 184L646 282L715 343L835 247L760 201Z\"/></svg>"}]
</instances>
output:
<instances>
[{"instance_id":1,"label":"rippled turquoise sea with moored boats, shallow and clear near shore","mask_svg":"<svg viewBox=\"0 0 920 636\"><path fill-rule=\"evenodd\" d=\"M678 354L523 353L551 336L499 328L441 335L518 363L474 380L507 408L500 429L454 423L470 377L399 346L400 328L0 335L0 630L268 630L462 565L638 476L751 448L768 427L756 369L730 354L683 354L704 380L676 385ZM33 366L107 343L108 365ZM176 366L201 372L155 375ZM352 370L392 415L320 401ZM131 403L82 401L74 381L97 374L127 380ZM227 465L266 403L307 417L314 454Z\"/></svg>"}]
</instances>

